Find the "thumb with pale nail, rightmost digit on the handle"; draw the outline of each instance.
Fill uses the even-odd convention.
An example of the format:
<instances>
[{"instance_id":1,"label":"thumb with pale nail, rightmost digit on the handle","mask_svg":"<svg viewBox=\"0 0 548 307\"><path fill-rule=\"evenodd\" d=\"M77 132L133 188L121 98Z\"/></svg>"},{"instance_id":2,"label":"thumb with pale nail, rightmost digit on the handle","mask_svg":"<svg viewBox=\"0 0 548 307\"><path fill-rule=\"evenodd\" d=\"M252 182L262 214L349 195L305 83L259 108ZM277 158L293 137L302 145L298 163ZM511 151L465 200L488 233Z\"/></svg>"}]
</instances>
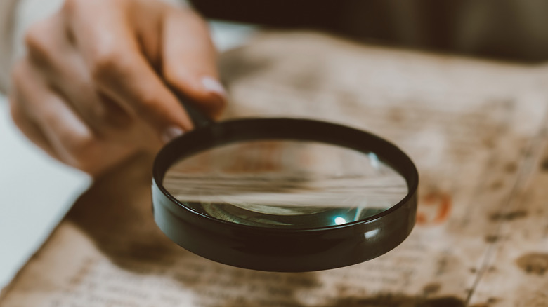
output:
<instances>
[{"instance_id":1,"label":"thumb with pale nail, rightmost digit on the handle","mask_svg":"<svg viewBox=\"0 0 548 307\"><path fill-rule=\"evenodd\" d=\"M162 73L196 107L217 118L226 104L218 81L216 50L206 23L193 11L167 11L163 18Z\"/></svg>"}]
</instances>

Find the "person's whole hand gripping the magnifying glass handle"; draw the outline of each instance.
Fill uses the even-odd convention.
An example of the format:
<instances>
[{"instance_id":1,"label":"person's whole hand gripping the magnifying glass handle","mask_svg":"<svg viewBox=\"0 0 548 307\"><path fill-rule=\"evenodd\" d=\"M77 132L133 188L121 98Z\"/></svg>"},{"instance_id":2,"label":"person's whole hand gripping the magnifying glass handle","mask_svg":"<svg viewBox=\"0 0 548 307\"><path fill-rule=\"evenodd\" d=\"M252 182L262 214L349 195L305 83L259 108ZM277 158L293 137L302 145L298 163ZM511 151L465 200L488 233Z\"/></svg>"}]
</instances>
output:
<instances>
[{"instance_id":1,"label":"person's whole hand gripping the magnifying glass handle","mask_svg":"<svg viewBox=\"0 0 548 307\"><path fill-rule=\"evenodd\" d=\"M167 84L211 117L225 104L204 21L157 0L66 0L25 37L16 125L54 158L100 175L192 123Z\"/></svg>"}]
</instances>

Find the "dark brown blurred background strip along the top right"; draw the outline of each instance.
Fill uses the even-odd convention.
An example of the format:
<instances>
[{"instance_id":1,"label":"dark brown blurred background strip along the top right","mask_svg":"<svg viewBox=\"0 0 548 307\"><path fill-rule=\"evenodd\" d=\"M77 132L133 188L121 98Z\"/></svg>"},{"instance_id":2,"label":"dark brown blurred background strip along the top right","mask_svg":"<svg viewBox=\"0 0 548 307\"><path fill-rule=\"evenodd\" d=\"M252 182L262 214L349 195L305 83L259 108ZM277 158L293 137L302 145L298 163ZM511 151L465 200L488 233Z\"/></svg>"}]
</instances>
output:
<instances>
[{"instance_id":1,"label":"dark brown blurred background strip along the top right","mask_svg":"<svg viewBox=\"0 0 548 307\"><path fill-rule=\"evenodd\" d=\"M208 18L500 60L548 59L543 0L191 0Z\"/></svg>"}]
</instances>

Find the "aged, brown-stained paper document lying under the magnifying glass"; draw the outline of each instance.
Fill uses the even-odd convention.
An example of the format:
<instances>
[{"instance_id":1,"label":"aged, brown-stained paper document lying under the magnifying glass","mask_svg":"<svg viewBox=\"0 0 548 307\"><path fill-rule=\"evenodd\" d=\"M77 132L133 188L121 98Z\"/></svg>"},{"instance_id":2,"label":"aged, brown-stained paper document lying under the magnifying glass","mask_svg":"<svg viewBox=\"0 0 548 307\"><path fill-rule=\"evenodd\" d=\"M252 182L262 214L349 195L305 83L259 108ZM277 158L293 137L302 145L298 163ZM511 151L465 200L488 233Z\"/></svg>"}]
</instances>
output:
<instances>
[{"instance_id":1,"label":"aged, brown-stained paper document lying under the magnifying glass","mask_svg":"<svg viewBox=\"0 0 548 307\"><path fill-rule=\"evenodd\" d=\"M411 236L330 271L216 264L157 229L140 157L77 200L0 306L548 306L547 70L308 32L263 34L221 69L227 118L319 118L406 151L421 176Z\"/></svg>"}]
</instances>

